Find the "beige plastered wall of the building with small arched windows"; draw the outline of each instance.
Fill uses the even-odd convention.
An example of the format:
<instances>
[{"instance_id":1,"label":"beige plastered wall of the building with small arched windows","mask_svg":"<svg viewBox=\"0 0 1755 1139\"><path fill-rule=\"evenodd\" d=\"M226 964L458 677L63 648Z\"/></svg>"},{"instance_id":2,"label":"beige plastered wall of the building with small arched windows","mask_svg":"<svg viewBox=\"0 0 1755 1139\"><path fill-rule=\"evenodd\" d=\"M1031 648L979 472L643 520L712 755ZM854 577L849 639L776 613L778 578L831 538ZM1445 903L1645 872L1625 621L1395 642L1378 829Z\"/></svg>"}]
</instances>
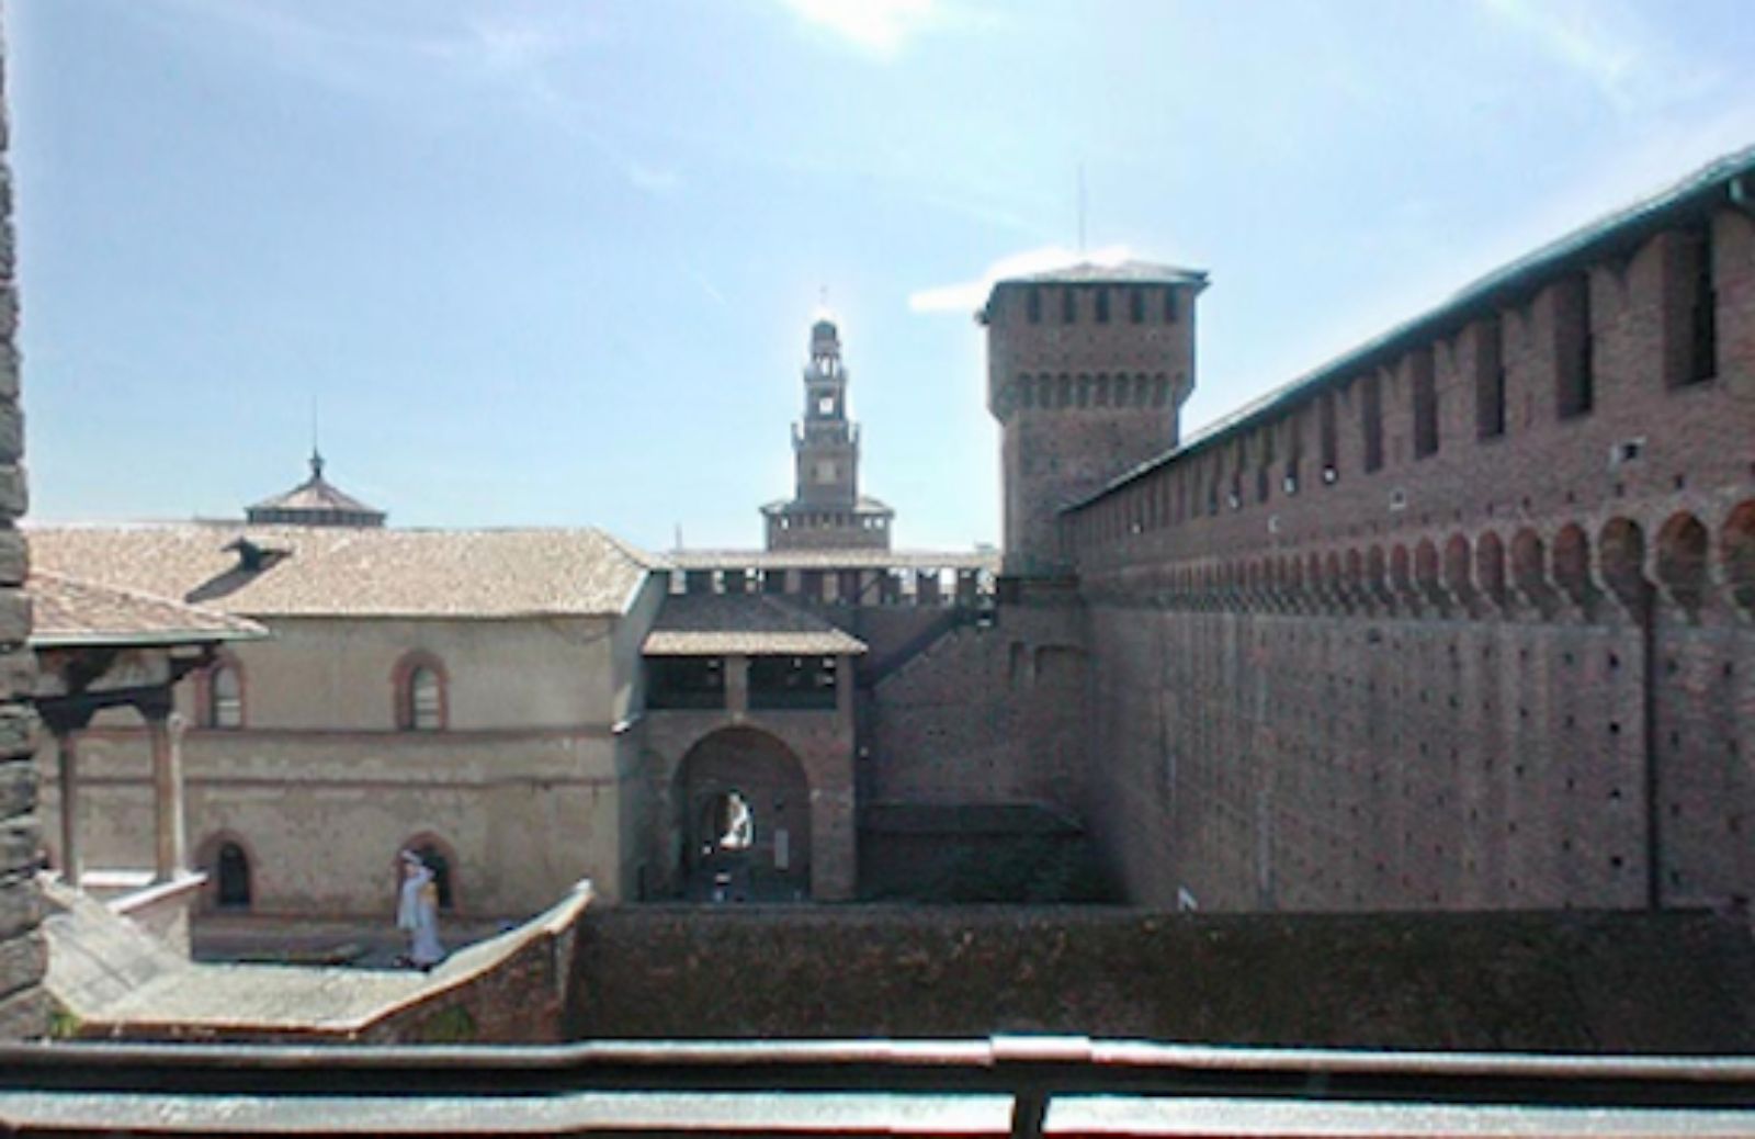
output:
<instances>
[{"instance_id":1,"label":"beige plastered wall of the building with small arched windows","mask_svg":"<svg viewBox=\"0 0 1755 1139\"><path fill-rule=\"evenodd\" d=\"M244 846L258 913L388 914L397 851L428 837L451 860L463 914L530 914L581 878L616 900L637 814L627 720L658 597L642 586L620 620L265 618L270 641L232 649L246 727L184 737L191 858L223 839ZM411 651L446 670L442 732L395 728L393 676ZM198 691L179 686L191 725ZM53 788L56 756L44 751ZM151 865L151 760L137 723L93 725L81 760L86 863ZM56 795L44 809L54 835Z\"/></svg>"}]
</instances>

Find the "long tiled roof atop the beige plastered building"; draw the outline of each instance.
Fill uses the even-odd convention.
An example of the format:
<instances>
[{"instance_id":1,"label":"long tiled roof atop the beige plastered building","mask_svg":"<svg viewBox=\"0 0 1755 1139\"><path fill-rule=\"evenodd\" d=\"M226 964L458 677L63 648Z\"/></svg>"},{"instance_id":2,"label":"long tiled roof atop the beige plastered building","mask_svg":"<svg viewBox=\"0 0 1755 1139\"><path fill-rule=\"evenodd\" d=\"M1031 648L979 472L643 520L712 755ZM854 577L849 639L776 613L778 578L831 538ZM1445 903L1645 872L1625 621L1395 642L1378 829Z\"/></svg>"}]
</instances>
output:
<instances>
[{"instance_id":1,"label":"long tiled roof atop the beige plastered building","mask_svg":"<svg viewBox=\"0 0 1755 1139\"><path fill-rule=\"evenodd\" d=\"M32 562L246 616L620 614L662 562L598 530L377 530L239 523L28 530ZM240 567L239 541L260 551Z\"/></svg>"}]
</instances>

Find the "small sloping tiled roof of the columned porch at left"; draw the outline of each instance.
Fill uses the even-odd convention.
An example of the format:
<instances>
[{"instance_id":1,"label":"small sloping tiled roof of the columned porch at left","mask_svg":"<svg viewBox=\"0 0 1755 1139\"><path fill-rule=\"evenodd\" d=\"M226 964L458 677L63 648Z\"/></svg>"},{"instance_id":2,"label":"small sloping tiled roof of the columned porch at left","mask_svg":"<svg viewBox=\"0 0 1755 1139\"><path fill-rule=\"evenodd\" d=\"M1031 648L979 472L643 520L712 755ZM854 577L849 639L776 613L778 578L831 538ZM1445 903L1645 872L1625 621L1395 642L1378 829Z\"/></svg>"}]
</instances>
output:
<instances>
[{"instance_id":1,"label":"small sloping tiled roof of the columned porch at left","mask_svg":"<svg viewBox=\"0 0 1755 1139\"><path fill-rule=\"evenodd\" d=\"M204 644L267 635L254 621L165 597L33 569L25 581L35 648Z\"/></svg>"}]
</instances>

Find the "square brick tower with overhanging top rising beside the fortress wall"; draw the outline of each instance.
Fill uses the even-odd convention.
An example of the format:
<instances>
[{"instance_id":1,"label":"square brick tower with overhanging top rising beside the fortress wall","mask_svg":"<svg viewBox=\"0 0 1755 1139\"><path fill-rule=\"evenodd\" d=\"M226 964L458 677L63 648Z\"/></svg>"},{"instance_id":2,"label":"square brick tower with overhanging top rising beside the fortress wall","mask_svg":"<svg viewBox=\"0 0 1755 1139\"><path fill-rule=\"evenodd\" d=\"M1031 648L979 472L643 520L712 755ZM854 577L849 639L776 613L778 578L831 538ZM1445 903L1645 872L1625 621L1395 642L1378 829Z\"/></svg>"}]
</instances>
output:
<instances>
[{"instance_id":1,"label":"square brick tower with overhanging top rising beside the fortress wall","mask_svg":"<svg viewBox=\"0 0 1755 1139\"><path fill-rule=\"evenodd\" d=\"M1062 572L1060 507L1176 446L1204 288L1204 272L1143 261L993 286L976 319L1000 423L1007 574Z\"/></svg>"}]
</instances>

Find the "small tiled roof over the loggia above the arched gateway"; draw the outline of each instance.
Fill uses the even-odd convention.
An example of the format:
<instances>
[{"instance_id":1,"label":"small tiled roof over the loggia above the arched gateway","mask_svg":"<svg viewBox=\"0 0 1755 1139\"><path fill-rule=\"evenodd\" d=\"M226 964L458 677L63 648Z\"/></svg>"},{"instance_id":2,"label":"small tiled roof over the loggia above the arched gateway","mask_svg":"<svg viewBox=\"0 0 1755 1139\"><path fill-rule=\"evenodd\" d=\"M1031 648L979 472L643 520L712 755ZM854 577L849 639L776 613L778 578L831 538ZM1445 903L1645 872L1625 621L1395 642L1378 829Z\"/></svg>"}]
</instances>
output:
<instances>
[{"instance_id":1,"label":"small tiled roof over the loggia above the arched gateway","mask_svg":"<svg viewBox=\"0 0 1755 1139\"><path fill-rule=\"evenodd\" d=\"M641 651L648 656L856 656L865 642L763 593L667 597Z\"/></svg>"}]
</instances>

